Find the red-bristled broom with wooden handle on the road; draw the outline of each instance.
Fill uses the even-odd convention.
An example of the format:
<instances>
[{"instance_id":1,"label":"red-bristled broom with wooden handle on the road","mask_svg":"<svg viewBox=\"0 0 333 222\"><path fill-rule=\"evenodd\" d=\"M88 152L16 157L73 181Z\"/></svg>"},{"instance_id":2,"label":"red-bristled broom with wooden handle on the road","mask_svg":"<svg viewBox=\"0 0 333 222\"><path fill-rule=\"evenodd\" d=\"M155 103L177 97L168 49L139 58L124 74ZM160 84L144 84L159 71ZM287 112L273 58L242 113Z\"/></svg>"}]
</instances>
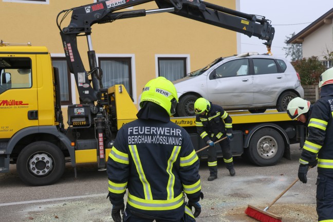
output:
<instances>
[{"instance_id":1,"label":"red-bristled broom with wooden handle on the road","mask_svg":"<svg viewBox=\"0 0 333 222\"><path fill-rule=\"evenodd\" d=\"M310 168L309 168L310 169ZM278 200L280 199L280 197L282 197L282 195L284 193L286 193L297 181L299 180L299 178L295 179L295 181L293 181L289 187L287 187L287 189L285 189L284 191L282 191L281 194L279 194L279 196L277 196L271 203L270 205L268 205L268 207L266 207L264 210L258 209L256 207L253 207L251 205L248 205L248 208L245 210L245 213L258 220L261 222L282 222L282 217L280 216L276 216L275 214L269 213L267 212L267 210Z\"/></svg>"}]
</instances>

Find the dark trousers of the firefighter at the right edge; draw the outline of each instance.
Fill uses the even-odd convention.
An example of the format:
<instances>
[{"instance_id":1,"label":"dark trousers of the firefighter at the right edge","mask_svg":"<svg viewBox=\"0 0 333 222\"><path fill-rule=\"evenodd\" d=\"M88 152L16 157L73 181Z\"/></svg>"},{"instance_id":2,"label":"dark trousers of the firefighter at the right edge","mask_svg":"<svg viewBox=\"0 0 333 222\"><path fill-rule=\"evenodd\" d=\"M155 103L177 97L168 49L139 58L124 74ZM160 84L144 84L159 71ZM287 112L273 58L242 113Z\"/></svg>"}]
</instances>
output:
<instances>
[{"instance_id":1,"label":"dark trousers of the firefighter at the right edge","mask_svg":"<svg viewBox=\"0 0 333 222\"><path fill-rule=\"evenodd\" d=\"M333 221L333 175L318 172L316 185L318 221Z\"/></svg>"}]
</instances>

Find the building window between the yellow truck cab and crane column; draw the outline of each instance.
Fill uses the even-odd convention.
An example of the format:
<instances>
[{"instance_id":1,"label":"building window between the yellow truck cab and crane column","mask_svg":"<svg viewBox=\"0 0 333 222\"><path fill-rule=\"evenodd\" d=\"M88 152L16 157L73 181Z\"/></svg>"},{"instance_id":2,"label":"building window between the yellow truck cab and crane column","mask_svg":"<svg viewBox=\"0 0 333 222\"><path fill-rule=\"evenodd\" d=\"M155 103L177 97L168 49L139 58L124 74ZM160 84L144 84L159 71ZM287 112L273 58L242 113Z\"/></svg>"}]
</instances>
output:
<instances>
[{"instance_id":1,"label":"building window between the yellow truck cab and crane column","mask_svg":"<svg viewBox=\"0 0 333 222\"><path fill-rule=\"evenodd\" d=\"M71 87L70 87L70 71L67 67L66 58L52 58L53 67L59 70L60 98L62 105L72 104Z\"/></svg>"}]
</instances>

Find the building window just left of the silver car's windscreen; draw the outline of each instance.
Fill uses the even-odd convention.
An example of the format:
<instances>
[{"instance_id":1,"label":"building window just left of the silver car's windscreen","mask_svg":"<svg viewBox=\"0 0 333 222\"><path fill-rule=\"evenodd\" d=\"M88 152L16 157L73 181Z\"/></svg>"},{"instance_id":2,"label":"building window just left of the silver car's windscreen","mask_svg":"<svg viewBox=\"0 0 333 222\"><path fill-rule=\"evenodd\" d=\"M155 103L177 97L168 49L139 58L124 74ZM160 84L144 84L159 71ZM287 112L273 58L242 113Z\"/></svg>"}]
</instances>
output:
<instances>
[{"instance_id":1,"label":"building window just left of the silver car's windscreen","mask_svg":"<svg viewBox=\"0 0 333 222\"><path fill-rule=\"evenodd\" d=\"M186 77L187 58L172 58L172 57L159 57L158 58L158 76L165 77L170 81L175 81Z\"/></svg>"}]
</instances>

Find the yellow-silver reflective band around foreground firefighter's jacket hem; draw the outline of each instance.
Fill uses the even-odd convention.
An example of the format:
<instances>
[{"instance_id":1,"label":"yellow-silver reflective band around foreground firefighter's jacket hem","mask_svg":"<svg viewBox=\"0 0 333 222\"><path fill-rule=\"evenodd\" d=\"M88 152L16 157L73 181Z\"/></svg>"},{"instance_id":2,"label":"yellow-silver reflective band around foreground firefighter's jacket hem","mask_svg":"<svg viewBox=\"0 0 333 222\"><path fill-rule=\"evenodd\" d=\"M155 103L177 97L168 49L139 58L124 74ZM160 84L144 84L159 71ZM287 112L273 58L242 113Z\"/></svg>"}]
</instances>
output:
<instances>
[{"instance_id":1,"label":"yellow-silver reflective band around foreground firefighter's jacket hem","mask_svg":"<svg viewBox=\"0 0 333 222\"><path fill-rule=\"evenodd\" d=\"M128 193L127 204L140 210L163 211L173 210L181 207L184 204L183 193L173 199L168 200L147 200L133 196Z\"/></svg>"}]
</instances>

